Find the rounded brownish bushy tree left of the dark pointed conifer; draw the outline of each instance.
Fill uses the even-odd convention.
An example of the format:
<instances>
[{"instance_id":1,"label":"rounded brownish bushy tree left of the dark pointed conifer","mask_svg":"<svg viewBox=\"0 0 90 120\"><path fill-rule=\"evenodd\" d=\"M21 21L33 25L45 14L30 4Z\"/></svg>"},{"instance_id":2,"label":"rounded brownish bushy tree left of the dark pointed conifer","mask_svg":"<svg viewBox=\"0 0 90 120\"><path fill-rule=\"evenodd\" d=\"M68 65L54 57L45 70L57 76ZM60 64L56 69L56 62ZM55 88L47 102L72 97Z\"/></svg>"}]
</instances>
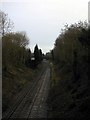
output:
<instances>
[{"instance_id":1,"label":"rounded brownish bushy tree left of the dark pointed conifer","mask_svg":"<svg viewBox=\"0 0 90 120\"><path fill-rule=\"evenodd\" d=\"M26 49L28 39L23 33L9 33L2 37L3 69L9 66L25 64L30 58L30 50Z\"/></svg>"}]
</instances>

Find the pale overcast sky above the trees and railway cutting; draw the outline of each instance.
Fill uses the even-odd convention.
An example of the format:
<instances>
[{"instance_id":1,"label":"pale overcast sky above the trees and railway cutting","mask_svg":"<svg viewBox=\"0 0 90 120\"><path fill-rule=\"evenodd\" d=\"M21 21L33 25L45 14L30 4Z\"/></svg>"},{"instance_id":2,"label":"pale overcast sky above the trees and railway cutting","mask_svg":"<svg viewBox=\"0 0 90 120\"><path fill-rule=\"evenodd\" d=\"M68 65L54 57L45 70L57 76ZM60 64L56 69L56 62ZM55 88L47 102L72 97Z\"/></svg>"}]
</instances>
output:
<instances>
[{"instance_id":1,"label":"pale overcast sky above the trees and railway cutting","mask_svg":"<svg viewBox=\"0 0 90 120\"><path fill-rule=\"evenodd\" d=\"M64 25L88 21L89 0L0 0L0 9L14 22L13 31L25 31L29 47L53 49Z\"/></svg>"}]
</instances>

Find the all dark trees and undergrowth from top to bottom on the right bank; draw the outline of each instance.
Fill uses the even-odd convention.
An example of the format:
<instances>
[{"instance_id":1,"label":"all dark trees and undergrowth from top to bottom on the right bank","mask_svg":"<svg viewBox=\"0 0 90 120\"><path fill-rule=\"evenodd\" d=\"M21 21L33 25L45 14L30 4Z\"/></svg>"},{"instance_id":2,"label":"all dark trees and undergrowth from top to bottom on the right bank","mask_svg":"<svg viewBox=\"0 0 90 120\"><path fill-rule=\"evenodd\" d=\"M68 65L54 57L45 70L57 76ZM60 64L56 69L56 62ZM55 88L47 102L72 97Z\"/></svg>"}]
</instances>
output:
<instances>
[{"instance_id":1,"label":"all dark trees and undergrowth from top to bottom on the right bank","mask_svg":"<svg viewBox=\"0 0 90 120\"><path fill-rule=\"evenodd\" d=\"M52 50L49 117L90 118L90 29L86 22L66 25Z\"/></svg>"}]
</instances>

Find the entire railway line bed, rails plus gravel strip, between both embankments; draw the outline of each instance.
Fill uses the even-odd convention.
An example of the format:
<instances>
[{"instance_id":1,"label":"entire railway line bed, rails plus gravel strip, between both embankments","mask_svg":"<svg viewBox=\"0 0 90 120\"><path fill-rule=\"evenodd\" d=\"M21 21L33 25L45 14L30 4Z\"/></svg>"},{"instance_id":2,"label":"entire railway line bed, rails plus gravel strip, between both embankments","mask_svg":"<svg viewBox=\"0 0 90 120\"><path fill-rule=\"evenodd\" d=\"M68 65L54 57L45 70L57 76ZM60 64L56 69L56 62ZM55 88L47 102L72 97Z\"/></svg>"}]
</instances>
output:
<instances>
[{"instance_id":1,"label":"entire railway line bed, rails plus gravel strip, between both embankments","mask_svg":"<svg viewBox=\"0 0 90 120\"><path fill-rule=\"evenodd\" d=\"M47 118L46 99L49 90L50 69L44 63L43 69L35 82L28 84L18 95L15 104L3 118Z\"/></svg>"}]
</instances>

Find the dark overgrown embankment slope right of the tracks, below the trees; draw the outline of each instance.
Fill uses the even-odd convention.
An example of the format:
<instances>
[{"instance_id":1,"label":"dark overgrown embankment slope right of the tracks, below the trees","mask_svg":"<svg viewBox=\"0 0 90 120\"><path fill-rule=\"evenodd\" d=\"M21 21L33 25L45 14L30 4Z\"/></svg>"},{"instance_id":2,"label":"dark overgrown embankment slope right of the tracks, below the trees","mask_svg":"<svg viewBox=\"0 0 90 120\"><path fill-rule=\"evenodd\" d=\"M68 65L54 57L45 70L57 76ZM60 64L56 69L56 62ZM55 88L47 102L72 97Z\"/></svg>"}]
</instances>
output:
<instances>
[{"instance_id":1,"label":"dark overgrown embankment slope right of the tracks, below the trees","mask_svg":"<svg viewBox=\"0 0 90 120\"><path fill-rule=\"evenodd\" d=\"M82 74L75 81L70 66L58 67L56 64L52 64L48 106L48 117L50 118L89 119L90 88L88 76Z\"/></svg>"}]
</instances>

